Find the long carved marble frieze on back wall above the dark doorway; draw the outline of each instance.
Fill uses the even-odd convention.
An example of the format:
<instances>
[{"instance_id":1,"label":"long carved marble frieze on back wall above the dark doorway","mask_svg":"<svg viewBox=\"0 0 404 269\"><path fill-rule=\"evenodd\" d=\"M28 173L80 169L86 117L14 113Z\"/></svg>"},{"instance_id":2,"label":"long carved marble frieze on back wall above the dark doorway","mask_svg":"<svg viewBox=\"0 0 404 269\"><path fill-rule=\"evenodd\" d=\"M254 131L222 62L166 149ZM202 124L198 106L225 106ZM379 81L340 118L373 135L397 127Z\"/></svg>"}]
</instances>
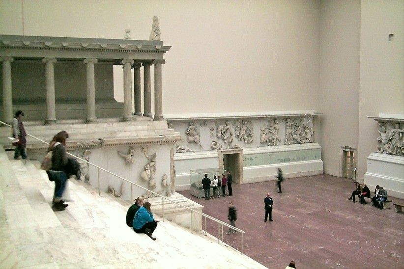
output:
<instances>
[{"instance_id":1,"label":"long carved marble frieze on back wall above the dark doorway","mask_svg":"<svg viewBox=\"0 0 404 269\"><path fill-rule=\"evenodd\" d=\"M312 143L313 115L263 118L191 119L170 121L170 129L185 133L176 153ZM255 135L259 138L256 139Z\"/></svg>"}]
</instances>

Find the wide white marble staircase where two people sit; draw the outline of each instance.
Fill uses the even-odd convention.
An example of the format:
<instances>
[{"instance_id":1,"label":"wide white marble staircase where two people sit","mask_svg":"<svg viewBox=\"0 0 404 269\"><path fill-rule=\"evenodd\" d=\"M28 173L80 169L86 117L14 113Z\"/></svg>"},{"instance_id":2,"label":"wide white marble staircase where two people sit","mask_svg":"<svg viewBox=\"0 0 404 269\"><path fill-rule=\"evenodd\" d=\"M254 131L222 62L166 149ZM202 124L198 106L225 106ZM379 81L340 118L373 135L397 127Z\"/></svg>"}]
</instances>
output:
<instances>
[{"instance_id":1,"label":"wide white marble staircase where two people sit","mask_svg":"<svg viewBox=\"0 0 404 269\"><path fill-rule=\"evenodd\" d=\"M74 180L69 206L54 212L54 183L38 164L10 161L0 146L0 268L264 268L158 216L157 241L136 234L125 202Z\"/></svg>"}]
</instances>

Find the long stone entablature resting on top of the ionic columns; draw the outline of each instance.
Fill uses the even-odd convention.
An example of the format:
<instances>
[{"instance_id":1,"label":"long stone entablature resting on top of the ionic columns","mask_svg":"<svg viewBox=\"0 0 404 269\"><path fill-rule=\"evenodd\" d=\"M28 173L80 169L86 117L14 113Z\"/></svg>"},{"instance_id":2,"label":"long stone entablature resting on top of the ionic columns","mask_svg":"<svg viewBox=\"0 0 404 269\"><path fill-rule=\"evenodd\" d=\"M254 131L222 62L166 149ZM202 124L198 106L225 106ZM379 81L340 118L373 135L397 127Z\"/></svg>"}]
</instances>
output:
<instances>
[{"instance_id":1,"label":"long stone entablature resting on top of the ionic columns","mask_svg":"<svg viewBox=\"0 0 404 269\"><path fill-rule=\"evenodd\" d=\"M163 59L162 41L0 35L1 56L98 59ZM148 55L149 54L149 55Z\"/></svg>"}]
</instances>

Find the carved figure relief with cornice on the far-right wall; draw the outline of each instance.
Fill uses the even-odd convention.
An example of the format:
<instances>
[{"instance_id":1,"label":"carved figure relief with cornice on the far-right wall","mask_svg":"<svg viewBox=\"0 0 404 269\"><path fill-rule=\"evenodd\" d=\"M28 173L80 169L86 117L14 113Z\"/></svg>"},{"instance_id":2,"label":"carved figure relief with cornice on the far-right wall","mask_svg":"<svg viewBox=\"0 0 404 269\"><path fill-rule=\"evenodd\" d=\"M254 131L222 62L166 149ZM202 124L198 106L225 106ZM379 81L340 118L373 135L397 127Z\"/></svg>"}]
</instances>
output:
<instances>
[{"instance_id":1,"label":"carved figure relief with cornice on the far-right wall","mask_svg":"<svg viewBox=\"0 0 404 269\"><path fill-rule=\"evenodd\" d=\"M404 156L404 115L382 114L374 119L377 124L377 153Z\"/></svg>"}]
</instances>

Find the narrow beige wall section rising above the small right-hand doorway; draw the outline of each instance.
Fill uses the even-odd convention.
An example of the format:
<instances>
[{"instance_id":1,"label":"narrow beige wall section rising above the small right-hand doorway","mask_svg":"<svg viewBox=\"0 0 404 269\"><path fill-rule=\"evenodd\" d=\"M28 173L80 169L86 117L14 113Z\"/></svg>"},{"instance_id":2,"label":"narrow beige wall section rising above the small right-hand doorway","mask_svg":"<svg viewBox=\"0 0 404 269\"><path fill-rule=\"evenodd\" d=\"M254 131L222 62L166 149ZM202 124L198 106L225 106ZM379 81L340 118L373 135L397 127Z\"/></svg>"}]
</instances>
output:
<instances>
[{"instance_id":1,"label":"narrow beige wall section rising above the small right-hand doorway","mask_svg":"<svg viewBox=\"0 0 404 269\"><path fill-rule=\"evenodd\" d=\"M319 143L324 173L339 176L341 147L358 148L360 0L320 7Z\"/></svg>"}]
</instances>

